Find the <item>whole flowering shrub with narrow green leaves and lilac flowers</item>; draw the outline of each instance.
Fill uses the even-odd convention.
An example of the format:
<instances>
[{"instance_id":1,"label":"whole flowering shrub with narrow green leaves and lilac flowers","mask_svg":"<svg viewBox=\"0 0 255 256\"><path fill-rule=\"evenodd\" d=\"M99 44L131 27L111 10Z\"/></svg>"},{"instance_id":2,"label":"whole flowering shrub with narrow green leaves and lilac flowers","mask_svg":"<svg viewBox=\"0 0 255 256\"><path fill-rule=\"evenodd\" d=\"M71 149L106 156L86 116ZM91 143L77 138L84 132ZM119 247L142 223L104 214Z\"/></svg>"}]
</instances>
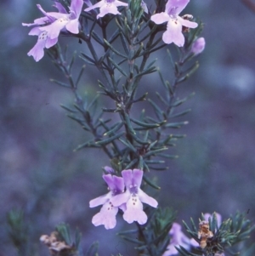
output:
<instances>
[{"instance_id":1,"label":"whole flowering shrub with narrow green leaves and lilac flowers","mask_svg":"<svg viewBox=\"0 0 255 256\"><path fill-rule=\"evenodd\" d=\"M179 99L177 89L197 70L198 63L193 58L205 48L205 39L200 37L201 21L190 14L180 16L188 3L189 0L156 0L153 5L141 0L127 3L59 0L54 3L59 12L46 12L37 4L44 16L31 24L23 23L23 26L33 26L29 35L38 36L28 55L38 61L44 50L47 51L68 81L54 82L69 88L74 95L73 107L63 105L63 108L72 120L91 134L92 139L78 145L76 150L99 148L111 162L111 167L105 167L103 174L109 192L89 202L90 208L102 205L92 219L93 225L113 229L118 213L128 224L135 222L135 230L124 230L119 235L133 242L139 255L144 256L224 255L228 247L231 247L229 252L234 252L235 244L246 240L254 228L241 213L222 223L217 213L210 218L208 214L202 214L198 223L191 219L191 228L184 222L190 239L175 222L173 210L159 207L156 199L149 196L155 193L149 191L147 195L144 192L160 190L157 180L151 178L156 176L153 171L166 170L165 161L176 158L169 152L169 147L184 138L184 134L175 134L173 128L188 124L181 118L190 109L178 111L178 106L190 97ZM99 109L99 95L88 100L79 92L85 66L73 72L75 57L69 60L62 51L58 43L62 35L75 37L78 43L87 46L80 54L81 60L99 72L102 80L98 81L99 94L108 97L114 107ZM168 48L172 43L174 45ZM169 57L166 65L173 71L172 77L169 74L165 77L156 60L151 60L151 54L165 48ZM151 73L159 77L156 88L161 86L161 93L156 92L156 100L154 95L147 94L144 86L143 78ZM77 77L74 74L78 74ZM134 105L143 104L144 100L150 103L152 111L138 113ZM176 117L180 118L178 122ZM21 240L17 239L19 232L15 232L18 230L16 225L22 222L22 214L12 212L8 218L14 242L22 243L17 242ZM68 225L58 225L51 236L41 236L41 241L52 255L82 255L80 238L76 233L76 238L71 239ZM98 255L97 247L94 243L86 255Z\"/></svg>"}]
</instances>

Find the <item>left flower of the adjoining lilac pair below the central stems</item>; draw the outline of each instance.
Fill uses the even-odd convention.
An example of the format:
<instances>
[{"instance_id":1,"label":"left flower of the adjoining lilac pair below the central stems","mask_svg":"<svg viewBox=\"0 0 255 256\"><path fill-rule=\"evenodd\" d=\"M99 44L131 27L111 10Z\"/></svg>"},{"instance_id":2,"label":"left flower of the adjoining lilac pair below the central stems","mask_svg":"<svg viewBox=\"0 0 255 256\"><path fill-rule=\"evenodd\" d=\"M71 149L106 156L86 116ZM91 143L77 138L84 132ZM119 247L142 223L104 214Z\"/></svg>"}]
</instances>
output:
<instances>
[{"instance_id":1,"label":"left flower of the adjoining lilac pair below the central stems","mask_svg":"<svg viewBox=\"0 0 255 256\"><path fill-rule=\"evenodd\" d=\"M89 202L89 207L94 208L99 205L103 205L100 212L95 214L92 223L95 226L105 225L105 229L113 229L116 226L116 213L118 208L113 206L112 198L117 194L124 191L124 181L122 177L117 177L111 174L103 175L103 179L107 183L110 192L104 196L99 196Z\"/></svg>"}]
</instances>

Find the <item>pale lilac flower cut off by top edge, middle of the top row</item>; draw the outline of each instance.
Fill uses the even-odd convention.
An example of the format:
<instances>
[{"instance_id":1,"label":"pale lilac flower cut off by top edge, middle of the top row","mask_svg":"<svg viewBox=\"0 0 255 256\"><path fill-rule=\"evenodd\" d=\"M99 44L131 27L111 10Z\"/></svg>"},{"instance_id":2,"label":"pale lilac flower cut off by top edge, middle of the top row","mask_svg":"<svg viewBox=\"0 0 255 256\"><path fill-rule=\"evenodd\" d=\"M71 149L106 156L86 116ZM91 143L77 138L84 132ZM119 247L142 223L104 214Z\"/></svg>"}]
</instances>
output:
<instances>
[{"instance_id":1,"label":"pale lilac flower cut off by top edge, middle of the top row","mask_svg":"<svg viewBox=\"0 0 255 256\"><path fill-rule=\"evenodd\" d=\"M117 9L118 6L128 6L128 4L118 0L101 0L99 3L95 3L93 6L84 9L84 11L88 12L92 9L99 8L99 14L97 15L97 19L99 19L104 17L105 14L121 14Z\"/></svg>"}]
</instances>

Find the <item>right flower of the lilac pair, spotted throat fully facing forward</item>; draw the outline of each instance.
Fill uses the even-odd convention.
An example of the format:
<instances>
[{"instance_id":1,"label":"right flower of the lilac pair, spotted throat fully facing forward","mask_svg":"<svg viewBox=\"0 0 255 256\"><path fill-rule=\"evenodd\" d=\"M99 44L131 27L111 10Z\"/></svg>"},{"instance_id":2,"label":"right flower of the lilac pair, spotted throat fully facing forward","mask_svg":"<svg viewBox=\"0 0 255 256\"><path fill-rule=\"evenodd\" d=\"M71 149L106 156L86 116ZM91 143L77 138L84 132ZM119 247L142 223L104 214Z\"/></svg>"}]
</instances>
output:
<instances>
[{"instance_id":1,"label":"right flower of the lilac pair, spotted throat fully facing forward","mask_svg":"<svg viewBox=\"0 0 255 256\"><path fill-rule=\"evenodd\" d=\"M147 203L153 208L157 207L157 202L154 198L148 196L140 189L144 172L139 169L123 170L122 177L126 186L126 191L120 195L114 196L111 200L113 206L118 207L126 203L123 219L127 223L137 221L143 225L147 221L147 215L143 211L143 203Z\"/></svg>"}]
</instances>

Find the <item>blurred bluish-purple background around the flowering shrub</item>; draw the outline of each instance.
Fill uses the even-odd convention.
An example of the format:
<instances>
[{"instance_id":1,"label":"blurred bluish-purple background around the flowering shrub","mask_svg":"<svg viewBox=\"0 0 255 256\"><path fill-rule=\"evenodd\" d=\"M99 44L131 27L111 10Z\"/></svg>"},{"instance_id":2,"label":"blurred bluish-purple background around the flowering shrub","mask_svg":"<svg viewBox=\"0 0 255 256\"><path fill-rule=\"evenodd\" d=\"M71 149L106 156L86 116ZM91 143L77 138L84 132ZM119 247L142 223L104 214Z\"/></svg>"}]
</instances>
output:
<instances>
[{"instance_id":1,"label":"blurred bluish-purple background around the flowering shrub","mask_svg":"<svg viewBox=\"0 0 255 256\"><path fill-rule=\"evenodd\" d=\"M38 63L26 55L37 37L28 36L30 30L21 22L41 17L36 3L52 10L50 0L0 3L0 256L17 255L6 224L6 214L14 208L25 213L37 252L33 255L48 255L39 237L61 222L82 231L84 251L99 241L99 255L133 255L133 245L116 232L134 225L120 217L114 230L91 224L99 208L88 208L88 202L105 193L102 167L110 162L103 151L73 151L89 138L59 106L72 105L73 95L49 82L65 80L47 54ZM238 0L191 0L186 13L205 24L202 37L207 47L198 57L199 70L177 91L181 98L192 92L195 96L184 105L192 111L181 117L190 123L173 131L187 134L171 149L178 159L167 162L167 172L151 174L159 177L158 201L178 211L179 223L213 211L224 219L241 211L254 222L255 13ZM70 53L74 48L87 51L70 38L61 37L59 42L68 43ZM156 57L162 72L169 73L166 49ZM157 75L150 78L144 82L149 94L158 84ZM97 71L88 66L81 94L94 96L97 79ZM102 104L107 104L105 100Z\"/></svg>"}]
</instances>

